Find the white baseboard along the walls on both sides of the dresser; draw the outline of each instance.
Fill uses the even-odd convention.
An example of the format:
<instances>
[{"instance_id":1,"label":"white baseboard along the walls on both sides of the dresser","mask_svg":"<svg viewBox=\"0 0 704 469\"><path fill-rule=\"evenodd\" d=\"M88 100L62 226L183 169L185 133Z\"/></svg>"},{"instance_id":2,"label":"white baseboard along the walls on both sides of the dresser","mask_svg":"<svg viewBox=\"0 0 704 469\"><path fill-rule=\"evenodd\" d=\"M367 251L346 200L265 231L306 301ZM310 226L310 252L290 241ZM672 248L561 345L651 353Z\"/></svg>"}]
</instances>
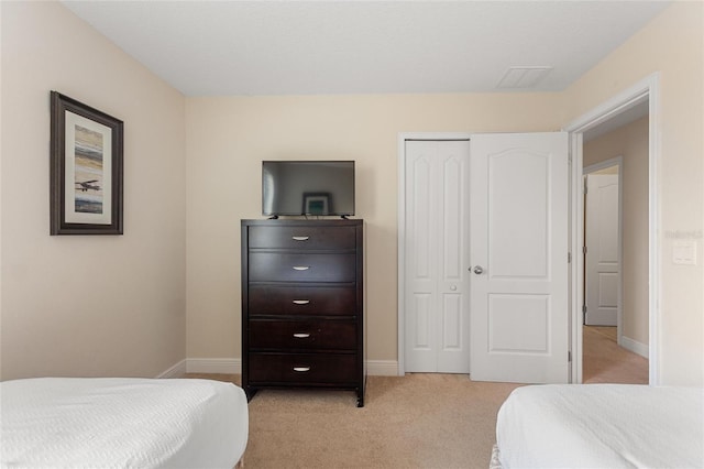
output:
<instances>
[{"instance_id":1,"label":"white baseboard along the walls on both sides of the dresser","mask_svg":"<svg viewBox=\"0 0 704 469\"><path fill-rule=\"evenodd\" d=\"M178 378L186 373L241 374L239 358L188 358L173 366L157 378ZM396 360L367 360L366 374L371 377L397 377Z\"/></svg>"}]
</instances>

